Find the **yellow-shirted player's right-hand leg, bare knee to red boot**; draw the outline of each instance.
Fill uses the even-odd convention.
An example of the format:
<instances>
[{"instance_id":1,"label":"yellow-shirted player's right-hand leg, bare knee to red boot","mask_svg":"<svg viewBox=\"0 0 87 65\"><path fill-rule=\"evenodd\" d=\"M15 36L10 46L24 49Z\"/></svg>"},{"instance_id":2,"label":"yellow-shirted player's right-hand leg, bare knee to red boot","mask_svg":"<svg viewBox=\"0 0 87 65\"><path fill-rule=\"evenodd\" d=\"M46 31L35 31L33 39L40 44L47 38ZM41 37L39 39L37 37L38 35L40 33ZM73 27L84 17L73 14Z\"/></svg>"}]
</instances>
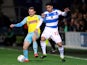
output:
<instances>
[{"instance_id":1,"label":"yellow-shirted player's right-hand leg, bare knee to red boot","mask_svg":"<svg viewBox=\"0 0 87 65\"><path fill-rule=\"evenodd\" d=\"M34 34L32 37L33 40L33 50L34 50L34 56L38 57L38 44L37 44L37 38L39 38L39 35Z\"/></svg>"}]
</instances>

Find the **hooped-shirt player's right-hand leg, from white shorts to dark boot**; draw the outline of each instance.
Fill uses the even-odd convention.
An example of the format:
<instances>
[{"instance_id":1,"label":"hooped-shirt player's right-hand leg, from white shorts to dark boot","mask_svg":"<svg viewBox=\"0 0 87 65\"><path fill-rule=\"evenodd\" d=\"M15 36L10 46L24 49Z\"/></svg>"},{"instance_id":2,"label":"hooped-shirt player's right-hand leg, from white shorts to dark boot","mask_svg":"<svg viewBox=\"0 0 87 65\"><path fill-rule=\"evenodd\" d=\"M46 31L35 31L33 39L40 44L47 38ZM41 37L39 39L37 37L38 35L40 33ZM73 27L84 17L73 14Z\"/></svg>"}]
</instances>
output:
<instances>
[{"instance_id":1,"label":"hooped-shirt player's right-hand leg, from white shorts to dark boot","mask_svg":"<svg viewBox=\"0 0 87 65\"><path fill-rule=\"evenodd\" d=\"M58 45L58 50L59 50L59 53L60 53L60 58L62 59L62 61L65 61L64 60L64 47L62 45L62 40L61 40L61 37L60 37L58 32L56 32L56 33L54 33L52 35L52 40L54 40L55 43Z\"/></svg>"}]
</instances>

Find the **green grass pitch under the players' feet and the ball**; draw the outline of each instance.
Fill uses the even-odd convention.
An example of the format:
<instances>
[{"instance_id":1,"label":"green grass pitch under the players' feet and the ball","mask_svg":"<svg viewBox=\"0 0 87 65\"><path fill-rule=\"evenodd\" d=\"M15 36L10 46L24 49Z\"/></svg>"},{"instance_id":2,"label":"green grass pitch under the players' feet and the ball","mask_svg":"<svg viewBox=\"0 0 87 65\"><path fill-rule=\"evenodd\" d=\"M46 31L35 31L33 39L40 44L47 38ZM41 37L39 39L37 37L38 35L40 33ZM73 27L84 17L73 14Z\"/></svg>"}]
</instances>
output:
<instances>
[{"instance_id":1,"label":"green grass pitch under the players' feet and the ball","mask_svg":"<svg viewBox=\"0 0 87 65\"><path fill-rule=\"evenodd\" d=\"M20 63L17 56L22 54L21 50L0 48L0 65L87 65L87 60L68 58L65 56L66 62L61 62L59 55L48 54L45 59L35 58L33 52L29 52L30 62Z\"/></svg>"}]
</instances>

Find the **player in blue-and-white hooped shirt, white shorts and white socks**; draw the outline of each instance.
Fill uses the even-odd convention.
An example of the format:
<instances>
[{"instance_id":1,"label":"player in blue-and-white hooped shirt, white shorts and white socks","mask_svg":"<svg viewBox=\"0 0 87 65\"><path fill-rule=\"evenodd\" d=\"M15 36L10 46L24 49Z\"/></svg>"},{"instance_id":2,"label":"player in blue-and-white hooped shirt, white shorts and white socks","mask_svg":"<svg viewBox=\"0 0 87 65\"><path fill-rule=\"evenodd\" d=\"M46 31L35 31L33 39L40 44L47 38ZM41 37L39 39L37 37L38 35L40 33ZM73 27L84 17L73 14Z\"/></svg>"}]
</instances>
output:
<instances>
[{"instance_id":1,"label":"player in blue-and-white hooped shirt, white shorts and white socks","mask_svg":"<svg viewBox=\"0 0 87 65\"><path fill-rule=\"evenodd\" d=\"M46 4L46 9L44 13L42 13L42 17L46 23L45 29L41 35L41 48L43 55L41 58L46 57L46 43L45 40L48 38L51 38L57 45L58 45L58 50L60 52L60 58L64 62L64 47L62 45L62 40L58 32L58 18L59 15L66 16L67 12L70 11L68 8L64 9L64 12L58 10L58 9L53 9L53 5L51 3Z\"/></svg>"}]
</instances>

